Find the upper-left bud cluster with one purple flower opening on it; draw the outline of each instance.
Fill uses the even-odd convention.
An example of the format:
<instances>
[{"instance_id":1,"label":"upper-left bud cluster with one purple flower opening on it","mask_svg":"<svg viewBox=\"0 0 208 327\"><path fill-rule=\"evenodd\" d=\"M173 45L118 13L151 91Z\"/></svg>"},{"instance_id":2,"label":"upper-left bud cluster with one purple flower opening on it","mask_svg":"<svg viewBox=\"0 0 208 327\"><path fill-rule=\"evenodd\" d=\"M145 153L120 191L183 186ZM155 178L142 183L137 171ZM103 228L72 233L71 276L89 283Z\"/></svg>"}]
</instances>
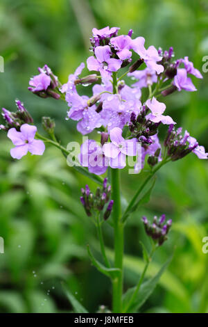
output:
<instances>
[{"instance_id":1,"label":"upper-left bud cluster with one purple flower opening on it","mask_svg":"<svg viewBox=\"0 0 208 327\"><path fill-rule=\"evenodd\" d=\"M58 77L53 74L51 68L44 65L42 68L39 67L38 71L40 74L33 76L29 81L30 86L28 90L39 97L60 99L62 95L60 93L61 84L58 81Z\"/></svg>"}]
</instances>

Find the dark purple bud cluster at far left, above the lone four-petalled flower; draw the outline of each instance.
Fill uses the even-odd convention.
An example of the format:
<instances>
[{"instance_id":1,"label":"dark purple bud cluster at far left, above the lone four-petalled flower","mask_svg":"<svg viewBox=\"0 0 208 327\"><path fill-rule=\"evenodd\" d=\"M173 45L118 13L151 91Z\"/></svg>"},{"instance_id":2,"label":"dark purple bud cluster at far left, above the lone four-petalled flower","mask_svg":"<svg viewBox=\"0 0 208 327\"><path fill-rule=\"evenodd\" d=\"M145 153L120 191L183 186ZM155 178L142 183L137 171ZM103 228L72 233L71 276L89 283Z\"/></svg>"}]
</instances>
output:
<instances>
[{"instance_id":1,"label":"dark purple bud cluster at far left, above the lone four-petalled flower","mask_svg":"<svg viewBox=\"0 0 208 327\"><path fill-rule=\"evenodd\" d=\"M33 118L25 109L24 104L18 99L15 100L17 111L12 113L5 108L2 108L3 119L6 121L5 125L0 125L0 129L8 131L8 129L15 127L19 131L23 124L33 124Z\"/></svg>"}]
</instances>

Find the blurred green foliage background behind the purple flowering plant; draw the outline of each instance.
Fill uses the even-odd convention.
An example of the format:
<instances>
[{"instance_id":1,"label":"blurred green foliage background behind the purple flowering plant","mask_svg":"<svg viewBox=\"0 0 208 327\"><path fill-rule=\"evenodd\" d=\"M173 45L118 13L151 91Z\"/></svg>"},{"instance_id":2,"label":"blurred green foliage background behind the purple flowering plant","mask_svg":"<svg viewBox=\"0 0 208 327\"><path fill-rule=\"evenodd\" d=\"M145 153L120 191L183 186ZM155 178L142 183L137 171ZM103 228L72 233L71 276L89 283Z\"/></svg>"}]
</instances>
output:
<instances>
[{"instance_id":1,"label":"blurred green foliage background behind the purple flowering plant","mask_svg":"<svg viewBox=\"0 0 208 327\"><path fill-rule=\"evenodd\" d=\"M42 115L56 121L63 145L81 141L76 125L66 121L67 105L35 97L27 90L37 67L47 63L62 83L89 56L92 27L133 29L146 45L173 46L176 58L189 56L202 72L208 55L208 3L196 0L1 0L0 106L15 110L15 98L24 102L36 125ZM167 111L208 150L207 81L193 82L196 93L177 93L165 99ZM85 92L89 92L85 88ZM40 127L41 128L41 127ZM79 203L80 187L87 178L67 166L62 154L48 147L42 157L27 155L12 160L6 134L0 134L0 312L69 312L62 291L66 280L71 292L89 312L110 307L110 282L89 263L86 245L96 251L96 230ZM130 199L144 174L122 173L123 195ZM166 213L173 219L168 241L148 271L153 275L173 253L168 271L142 307L142 312L208 312L208 254L202 238L208 236L208 166L194 154L168 163L158 173L153 196L139 208L125 231L125 289L135 284L143 267L139 239L149 246L141 216ZM95 189L95 184L89 182ZM105 239L112 248L112 228ZM98 255L98 253L96 253ZM109 250L112 257L112 250Z\"/></svg>"}]
</instances>

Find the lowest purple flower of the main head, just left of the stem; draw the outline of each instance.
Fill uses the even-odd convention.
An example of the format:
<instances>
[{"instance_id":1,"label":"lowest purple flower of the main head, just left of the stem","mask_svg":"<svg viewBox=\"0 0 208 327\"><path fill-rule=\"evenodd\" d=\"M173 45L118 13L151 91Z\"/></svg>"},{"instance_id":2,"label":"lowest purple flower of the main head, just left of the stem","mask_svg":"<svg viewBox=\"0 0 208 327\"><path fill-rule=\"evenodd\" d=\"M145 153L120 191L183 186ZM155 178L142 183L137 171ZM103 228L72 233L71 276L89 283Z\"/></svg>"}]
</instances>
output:
<instances>
[{"instance_id":1,"label":"lowest purple flower of the main head, just left of the stem","mask_svg":"<svg viewBox=\"0 0 208 327\"><path fill-rule=\"evenodd\" d=\"M108 159L94 140L87 140L81 145L78 159L83 167L88 167L90 173L102 175L107 170Z\"/></svg>"}]
</instances>

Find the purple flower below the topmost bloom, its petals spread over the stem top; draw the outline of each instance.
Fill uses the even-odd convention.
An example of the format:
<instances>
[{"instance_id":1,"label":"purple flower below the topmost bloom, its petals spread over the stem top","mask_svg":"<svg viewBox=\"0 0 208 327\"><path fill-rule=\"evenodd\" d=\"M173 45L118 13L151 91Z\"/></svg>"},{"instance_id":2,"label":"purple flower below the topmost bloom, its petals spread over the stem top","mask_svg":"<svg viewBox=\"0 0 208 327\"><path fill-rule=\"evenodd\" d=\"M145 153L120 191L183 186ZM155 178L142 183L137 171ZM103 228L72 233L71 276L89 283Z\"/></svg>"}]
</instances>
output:
<instances>
[{"instance_id":1,"label":"purple flower below the topmost bloom, its petals spread over the stem top","mask_svg":"<svg viewBox=\"0 0 208 327\"><path fill-rule=\"evenodd\" d=\"M87 68L89 70L100 71L104 76L106 72L116 72L121 67L122 61L120 59L110 58L112 51L109 45L104 47L96 47L94 56L87 58Z\"/></svg>"}]
</instances>

